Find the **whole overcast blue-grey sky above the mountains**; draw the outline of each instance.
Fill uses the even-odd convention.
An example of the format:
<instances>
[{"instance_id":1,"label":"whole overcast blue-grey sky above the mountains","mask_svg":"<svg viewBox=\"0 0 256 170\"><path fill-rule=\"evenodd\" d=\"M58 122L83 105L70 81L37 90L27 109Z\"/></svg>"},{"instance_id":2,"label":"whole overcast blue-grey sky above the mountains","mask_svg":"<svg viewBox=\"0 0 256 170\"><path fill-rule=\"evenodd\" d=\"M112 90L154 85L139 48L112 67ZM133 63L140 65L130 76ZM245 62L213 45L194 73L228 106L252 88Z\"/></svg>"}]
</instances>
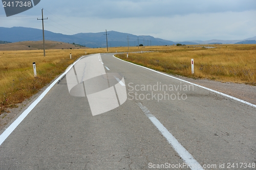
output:
<instances>
[{"instance_id":1,"label":"whole overcast blue-grey sky above the mountains","mask_svg":"<svg viewBox=\"0 0 256 170\"><path fill-rule=\"evenodd\" d=\"M0 27L41 29L42 8L45 30L67 35L108 30L172 41L256 36L255 0L41 0L10 17L2 5Z\"/></svg>"}]
</instances>

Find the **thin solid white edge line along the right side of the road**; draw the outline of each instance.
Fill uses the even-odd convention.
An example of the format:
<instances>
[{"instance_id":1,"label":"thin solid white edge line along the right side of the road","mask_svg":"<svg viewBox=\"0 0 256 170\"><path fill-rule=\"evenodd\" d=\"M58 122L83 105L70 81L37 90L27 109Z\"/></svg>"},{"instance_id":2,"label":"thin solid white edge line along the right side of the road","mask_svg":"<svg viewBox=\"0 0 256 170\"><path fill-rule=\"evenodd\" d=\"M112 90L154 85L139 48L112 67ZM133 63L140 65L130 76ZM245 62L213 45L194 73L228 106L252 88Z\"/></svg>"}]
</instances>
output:
<instances>
[{"instance_id":1,"label":"thin solid white edge line along the right side of the road","mask_svg":"<svg viewBox=\"0 0 256 170\"><path fill-rule=\"evenodd\" d=\"M115 56L113 55L113 57L115 57ZM117 58L117 57L115 57L115 58ZM120 59L120 58L117 58L117 59L119 59L119 60L121 60L121 61L124 61L124 60L122 60L122 59ZM137 65L137 64L134 64L134 63L131 63L131 62L128 62L128 61L124 61L124 62L130 63L130 64L133 64L133 65ZM207 88L207 87L204 87L204 86L201 86L201 85L195 84L195 83L191 83L191 82L188 82L188 81L185 81L185 80L182 80L182 79L179 79L179 78L176 78L176 77L170 76L170 75L166 75L166 74L164 74L164 73L162 73L162 72L156 71L156 70L151 69L151 68L147 68L147 67L144 67L144 66L141 66L141 65L137 65L137 66L140 66L140 67L143 67L143 68L146 68L146 69L149 69L149 70L152 70L152 71L158 72L158 73L159 73L159 74L161 74L161 75L165 75L165 76L168 76L168 77L170 77L170 78L177 79L177 80L183 81L183 82L185 82L185 83L189 83L189 84L192 84L192 85L194 85L194 86L201 87L201 88L203 88L203 89L206 89L206 90L209 90L209 91L212 91L212 92L215 92L215 93L218 93L218 94L224 95L224 96L226 96L227 98L230 98L230 99L233 99L233 100L239 101L239 102L241 102L241 103L244 103L244 104L246 104L246 105L249 105L249 106L252 106L252 107L255 107L255 108L256 108L256 105L253 105L253 104L251 104L251 103L249 103L249 102L243 101L243 100L238 99L238 98L234 98L234 97L233 97L233 96L231 96L231 95L228 95L228 94L225 94L225 93L222 93L222 92L216 91L216 90L212 90L212 89L210 89L210 88Z\"/></svg>"}]
</instances>

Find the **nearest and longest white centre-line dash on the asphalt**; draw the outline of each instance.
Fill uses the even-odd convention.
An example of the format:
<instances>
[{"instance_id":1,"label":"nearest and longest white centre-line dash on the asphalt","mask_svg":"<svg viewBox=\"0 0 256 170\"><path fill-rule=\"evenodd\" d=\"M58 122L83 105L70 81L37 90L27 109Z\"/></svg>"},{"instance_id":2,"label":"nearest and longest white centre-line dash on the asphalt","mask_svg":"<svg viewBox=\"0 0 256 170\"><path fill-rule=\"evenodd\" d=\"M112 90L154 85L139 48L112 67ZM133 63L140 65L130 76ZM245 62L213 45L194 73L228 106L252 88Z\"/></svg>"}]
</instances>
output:
<instances>
[{"instance_id":1,"label":"nearest and longest white centre-line dash on the asphalt","mask_svg":"<svg viewBox=\"0 0 256 170\"><path fill-rule=\"evenodd\" d=\"M151 122L157 127L162 135L167 139L173 149L180 155L180 157L188 164L188 167L192 170L203 170L202 166L194 157L180 144L180 142L159 122L159 120L150 113L150 111L141 103L137 103L139 108L145 113L145 115L151 120ZM190 166L189 166L190 165Z\"/></svg>"}]
</instances>

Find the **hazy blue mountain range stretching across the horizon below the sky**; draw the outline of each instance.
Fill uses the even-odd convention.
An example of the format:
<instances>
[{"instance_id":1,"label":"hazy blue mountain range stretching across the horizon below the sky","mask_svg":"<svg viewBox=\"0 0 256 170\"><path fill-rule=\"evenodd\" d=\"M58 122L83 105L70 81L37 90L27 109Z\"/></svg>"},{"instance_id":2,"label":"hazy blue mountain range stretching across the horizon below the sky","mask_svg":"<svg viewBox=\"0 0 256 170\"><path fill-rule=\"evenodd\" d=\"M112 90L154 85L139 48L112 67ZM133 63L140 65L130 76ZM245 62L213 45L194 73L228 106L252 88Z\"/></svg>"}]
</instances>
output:
<instances>
[{"instance_id":1,"label":"hazy blue mountain range stretching across the horizon below the sky","mask_svg":"<svg viewBox=\"0 0 256 170\"><path fill-rule=\"evenodd\" d=\"M255 43L256 36L244 40L193 40L193 41L169 41L160 38L155 38L148 35L133 35L128 33L120 33L116 31L109 31L108 45L113 46L127 46L128 40L130 46L137 46L138 44L147 45L173 45L181 44L234 44L234 43ZM19 42L19 41L39 41L42 40L42 30L25 27L0 27L0 41ZM45 40L76 43L87 47L106 47L105 32L100 33L78 33L74 35L64 35L60 33L53 33L45 30Z\"/></svg>"}]
</instances>

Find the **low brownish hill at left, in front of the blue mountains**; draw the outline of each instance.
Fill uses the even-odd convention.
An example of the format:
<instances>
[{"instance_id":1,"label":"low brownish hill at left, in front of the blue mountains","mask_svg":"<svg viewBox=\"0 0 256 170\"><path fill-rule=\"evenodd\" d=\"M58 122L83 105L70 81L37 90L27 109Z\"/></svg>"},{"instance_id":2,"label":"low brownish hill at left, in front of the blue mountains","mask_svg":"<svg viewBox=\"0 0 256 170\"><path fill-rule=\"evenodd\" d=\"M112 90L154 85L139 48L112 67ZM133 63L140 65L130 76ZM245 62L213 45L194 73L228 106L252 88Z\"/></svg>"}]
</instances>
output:
<instances>
[{"instance_id":1,"label":"low brownish hill at left, in front of the blue mountains","mask_svg":"<svg viewBox=\"0 0 256 170\"><path fill-rule=\"evenodd\" d=\"M69 44L64 42L57 41L45 41L46 49L81 49L86 48L76 44ZM0 51L11 51L11 50L42 50L44 45L42 41L22 41L22 42L13 42L7 44L0 44Z\"/></svg>"}]
</instances>

